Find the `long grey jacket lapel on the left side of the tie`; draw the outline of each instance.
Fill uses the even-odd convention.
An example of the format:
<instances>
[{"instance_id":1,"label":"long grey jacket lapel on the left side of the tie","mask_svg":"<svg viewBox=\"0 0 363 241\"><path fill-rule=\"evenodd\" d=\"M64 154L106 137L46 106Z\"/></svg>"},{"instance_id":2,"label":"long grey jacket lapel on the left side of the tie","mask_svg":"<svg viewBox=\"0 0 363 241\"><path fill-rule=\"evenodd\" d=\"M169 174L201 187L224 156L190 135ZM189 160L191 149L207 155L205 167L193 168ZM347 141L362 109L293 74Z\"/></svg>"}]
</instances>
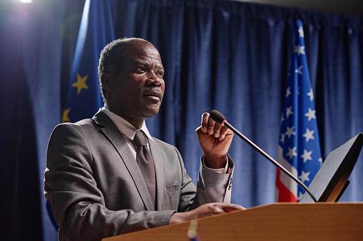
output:
<instances>
[{"instance_id":1,"label":"long grey jacket lapel on the left side of the tie","mask_svg":"<svg viewBox=\"0 0 363 241\"><path fill-rule=\"evenodd\" d=\"M99 128L108 140L113 144L118 154L121 156L123 163L125 164L128 172L130 173L133 181L138 189L141 199L147 210L154 210L153 203L151 202L148 188L146 187L143 175L134 160L130 147L128 146L123 134L118 130L116 125L111 121L108 116L101 111L101 109L95 114L93 120L96 122L96 127Z\"/></svg>"}]
</instances>

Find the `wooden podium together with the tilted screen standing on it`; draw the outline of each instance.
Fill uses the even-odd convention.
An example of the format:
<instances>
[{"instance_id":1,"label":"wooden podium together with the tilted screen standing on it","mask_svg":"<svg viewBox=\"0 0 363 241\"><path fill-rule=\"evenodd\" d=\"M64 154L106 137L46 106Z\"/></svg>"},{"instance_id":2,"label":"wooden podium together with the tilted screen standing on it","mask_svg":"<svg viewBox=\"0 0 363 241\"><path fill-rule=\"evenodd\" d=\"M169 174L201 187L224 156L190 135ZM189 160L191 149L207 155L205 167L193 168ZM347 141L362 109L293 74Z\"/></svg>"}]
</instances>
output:
<instances>
[{"instance_id":1,"label":"wooden podium together with the tilted screen standing on it","mask_svg":"<svg viewBox=\"0 0 363 241\"><path fill-rule=\"evenodd\" d=\"M274 203L198 222L204 240L363 240L363 203L337 203L363 145L363 134L329 153L300 203ZM189 240L190 222L108 237L121 240Z\"/></svg>"}]
</instances>

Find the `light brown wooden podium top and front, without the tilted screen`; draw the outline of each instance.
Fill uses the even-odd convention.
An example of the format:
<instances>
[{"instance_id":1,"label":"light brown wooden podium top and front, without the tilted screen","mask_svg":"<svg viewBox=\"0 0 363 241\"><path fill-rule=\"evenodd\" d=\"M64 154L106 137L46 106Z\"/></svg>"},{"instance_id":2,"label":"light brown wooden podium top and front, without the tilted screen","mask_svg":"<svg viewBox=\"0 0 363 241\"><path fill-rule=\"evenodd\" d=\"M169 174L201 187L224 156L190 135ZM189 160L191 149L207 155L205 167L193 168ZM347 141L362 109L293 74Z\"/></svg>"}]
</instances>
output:
<instances>
[{"instance_id":1,"label":"light brown wooden podium top and front, without the tilted screen","mask_svg":"<svg viewBox=\"0 0 363 241\"><path fill-rule=\"evenodd\" d=\"M190 222L108 237L188 240ZM203 240L363 240L363 203L275 203L198 220Z\"/></svg>"}]
</instances>

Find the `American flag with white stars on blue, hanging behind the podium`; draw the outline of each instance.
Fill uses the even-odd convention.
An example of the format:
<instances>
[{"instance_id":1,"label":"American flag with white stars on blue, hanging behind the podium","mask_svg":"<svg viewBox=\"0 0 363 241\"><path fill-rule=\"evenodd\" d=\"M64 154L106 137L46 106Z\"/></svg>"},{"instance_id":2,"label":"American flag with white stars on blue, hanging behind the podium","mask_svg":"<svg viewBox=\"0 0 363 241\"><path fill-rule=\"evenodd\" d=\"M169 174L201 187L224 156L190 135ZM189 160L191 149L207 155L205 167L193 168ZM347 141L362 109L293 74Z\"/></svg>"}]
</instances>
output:
<instances>
[{"instance_id":1,"label":"American flag with white stars on blue, hanging behind the podium","mask_svg":"<svg viewBox=\"0 0 363 241\"><path fill-rule=\"evenodd\" d=\"M295 50L287 77L285 103L281 115L277 161L309 186L322 165L314 95L310 82L302 22L296 21ZM278 202L300 201L305 190L277 169Z\"/></svg>"}]
</instances>

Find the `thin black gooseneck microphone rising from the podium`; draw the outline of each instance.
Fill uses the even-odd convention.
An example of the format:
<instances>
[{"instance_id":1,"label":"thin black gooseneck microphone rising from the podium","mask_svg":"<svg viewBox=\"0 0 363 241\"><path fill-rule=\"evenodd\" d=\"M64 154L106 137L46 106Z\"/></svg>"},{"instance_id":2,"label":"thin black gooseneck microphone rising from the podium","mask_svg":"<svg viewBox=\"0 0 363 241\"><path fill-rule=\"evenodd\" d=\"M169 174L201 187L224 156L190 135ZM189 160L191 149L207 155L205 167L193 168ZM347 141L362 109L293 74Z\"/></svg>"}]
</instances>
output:
<instances>
[{"instance_id":1,"label":"thin black gooseneck microphone rising from the podium","mask_svg":"<svg viewBox=\"0 0 363 241\"><path fill-rule=\"evenodd\" d=\"M262 149L260 149L260 147L258 147L255 143L253 143L252 141L250 141L250 139L248 139L242 133L238 132L237 129L235 129L235 127L232 127L232 125L230 125L230 123L227 122L227 120L225 119L225 117L223 116L223 114L220 114L220 112L218 112L217 110L212 110L210 112L210 118L212 118L215 122L217 122L219 124L223 124L225 127L229 128L230 130L232 130L232 132L234 132L235 134L237 134L237 136L240 136L240 138L243 141L246 141L247 144L249 144L250 146L253 147L253 149L255 149L256 151L260 152L260 154L262 154L262 156L265 156L265 158L267 160L271 161L272 164L274 164L275 166L277 166L277 168L279 168L287 176L290 176L290 178L292 178L297 184L299 184L302 188L305 189L305 191L312 197L312 200L314 200L315 203L317 202L317 198L315 198L315 196L312 195L312 193L309 190L309 188L307 188L307 186L305 186L305 184L302 183L302 181L300 181L296 176L292 175L292 173L290 173L290 171L287 171L287 169L285 167L283 167L281 164L279 164L277 161L275 161L275 159L272 159L271 156L269 156L265 151L263 151Z\"/></svg>"}]
</instances>

